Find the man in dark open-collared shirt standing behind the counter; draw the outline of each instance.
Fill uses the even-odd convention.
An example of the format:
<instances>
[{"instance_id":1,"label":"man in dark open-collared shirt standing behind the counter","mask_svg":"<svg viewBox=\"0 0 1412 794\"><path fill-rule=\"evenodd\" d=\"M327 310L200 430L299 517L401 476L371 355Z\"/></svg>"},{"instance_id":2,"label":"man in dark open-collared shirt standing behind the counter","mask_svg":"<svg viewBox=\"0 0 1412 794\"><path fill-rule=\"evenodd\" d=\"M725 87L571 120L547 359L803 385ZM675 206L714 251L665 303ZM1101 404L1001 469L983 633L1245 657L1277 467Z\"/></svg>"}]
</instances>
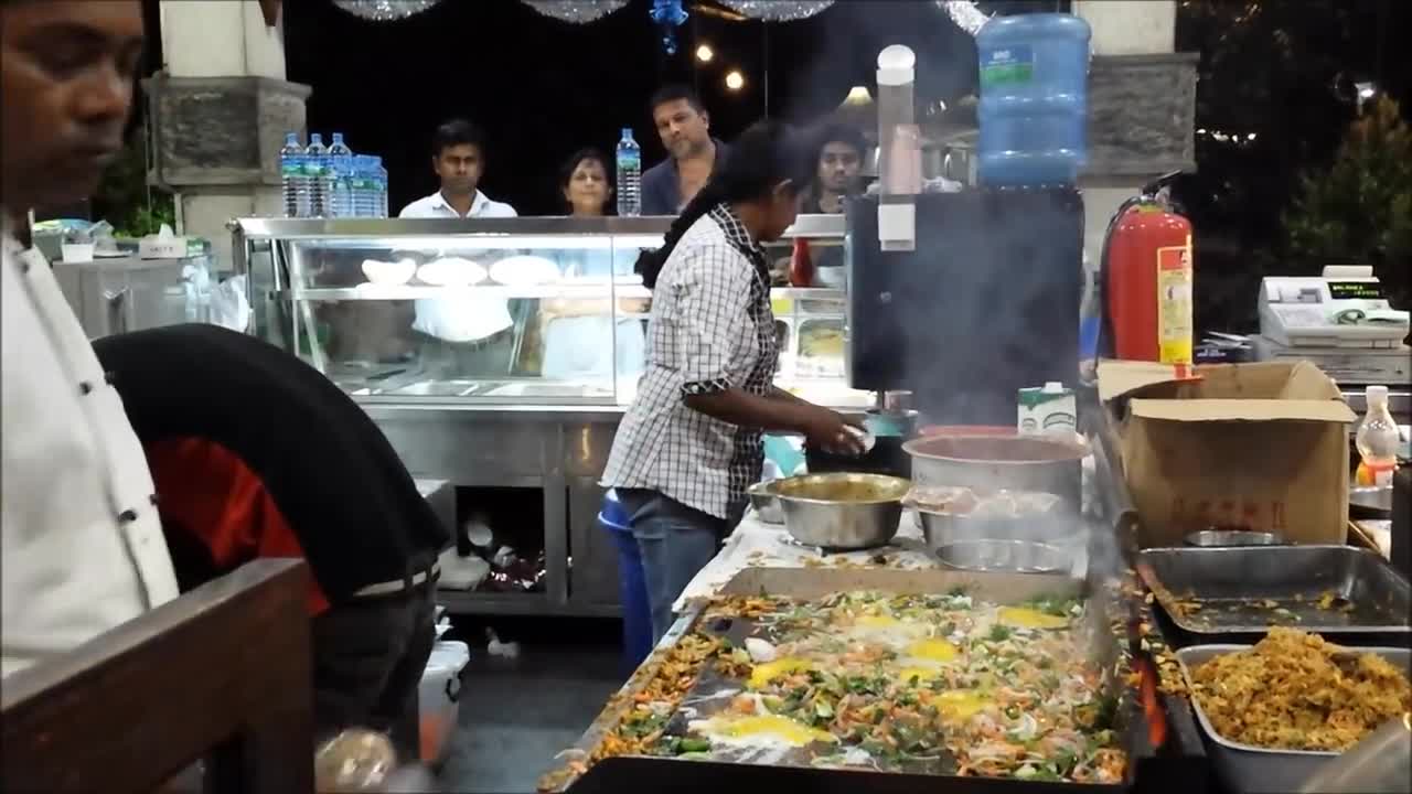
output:
<instances>
[{"instance_id":1,"label":"man in dark open-collared shirt standing behind the counter","mask_svg":"<svg viewBox=\"0 0 1412 794\"><path fill-rule=\"evenodd\" d=\"M666 160L642 174L642 215L676 215L729 154L710 136L710 114L696 92L672 85L652 95L652 123Z\"/></svg>"}]
</instances>

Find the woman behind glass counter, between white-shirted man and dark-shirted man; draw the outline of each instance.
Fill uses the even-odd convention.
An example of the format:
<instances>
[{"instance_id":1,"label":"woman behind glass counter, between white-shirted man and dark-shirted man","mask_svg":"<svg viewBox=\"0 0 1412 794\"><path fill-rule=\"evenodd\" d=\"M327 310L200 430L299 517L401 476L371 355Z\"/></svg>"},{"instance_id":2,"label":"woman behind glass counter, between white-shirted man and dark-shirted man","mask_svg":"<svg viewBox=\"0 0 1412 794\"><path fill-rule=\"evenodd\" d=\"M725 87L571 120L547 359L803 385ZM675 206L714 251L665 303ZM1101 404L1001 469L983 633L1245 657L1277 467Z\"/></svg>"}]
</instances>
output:
<instances>
[{"instance_id":1,"label":"woman behind glass counter, between white-shirted man and dark-shirted man","mask_svg":"<svg viewBox=\"0 0 1412 794\"><path fill-rule=\"evenodd\" d=\"M580 148L559 170L559 192L569 218L603 218L613 198L607 157L596 148ZM635 251L582 249L563 251L565 278L606 281L631 274ZM621 267L614 267L621 261ZM604 292L607 287L604 285ZM641 314L644 301L620 300L618 311ZM645 335L640 319L621 318L614 336L613 307L603 300L551 298L539 302L539 335L544 359L539 374L555 380L589 381L606 387L614 374L623 386L642 372Z\"/></svg>"}]
</instances>

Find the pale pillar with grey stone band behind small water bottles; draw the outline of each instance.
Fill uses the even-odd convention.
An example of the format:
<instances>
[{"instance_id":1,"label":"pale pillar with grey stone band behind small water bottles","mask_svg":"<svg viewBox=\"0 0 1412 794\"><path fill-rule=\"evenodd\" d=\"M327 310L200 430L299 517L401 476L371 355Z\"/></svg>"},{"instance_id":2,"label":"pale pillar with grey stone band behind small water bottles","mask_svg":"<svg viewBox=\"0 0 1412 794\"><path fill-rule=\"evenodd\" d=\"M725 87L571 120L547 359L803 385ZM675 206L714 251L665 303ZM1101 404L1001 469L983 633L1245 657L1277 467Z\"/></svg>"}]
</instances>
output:
<instances>
[{"instance_id":1,"label":"pale pillar with grey stone band behind small water bottles","mask_svg":"<svg viewBox=\"0 0 1412 794\"><path fill-rule=\"evenodd\" d=\"M232 218L280 215L284 133L305 127L309 88L285 81L284 30L257 0L162 0L164 72L147 81L155 162L179 232L229 268Z\"/></svg>"}]
</instances>

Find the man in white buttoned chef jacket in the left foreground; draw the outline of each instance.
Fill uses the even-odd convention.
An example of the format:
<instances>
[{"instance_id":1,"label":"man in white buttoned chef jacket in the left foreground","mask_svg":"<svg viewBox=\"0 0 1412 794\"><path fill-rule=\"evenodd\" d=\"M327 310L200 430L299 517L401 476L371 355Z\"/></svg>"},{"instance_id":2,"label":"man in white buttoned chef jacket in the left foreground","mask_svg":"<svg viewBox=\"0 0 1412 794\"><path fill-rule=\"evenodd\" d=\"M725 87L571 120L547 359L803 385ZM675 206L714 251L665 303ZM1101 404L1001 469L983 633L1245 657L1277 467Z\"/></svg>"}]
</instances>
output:
<instances>
[{"instance_id":1,"label":"man in white buttoned chef jacket in the left foreground","mask_svg":"<svg viewBox=\"0 0 1412 794\"><path fill-rule=\"evenodd\" d=\"M123 147L137 0L0 1L0 671L176 596L147 459L20 213L92 195ZM25 235L27 237L28 235Z\"/></svg>"}]
</instances>

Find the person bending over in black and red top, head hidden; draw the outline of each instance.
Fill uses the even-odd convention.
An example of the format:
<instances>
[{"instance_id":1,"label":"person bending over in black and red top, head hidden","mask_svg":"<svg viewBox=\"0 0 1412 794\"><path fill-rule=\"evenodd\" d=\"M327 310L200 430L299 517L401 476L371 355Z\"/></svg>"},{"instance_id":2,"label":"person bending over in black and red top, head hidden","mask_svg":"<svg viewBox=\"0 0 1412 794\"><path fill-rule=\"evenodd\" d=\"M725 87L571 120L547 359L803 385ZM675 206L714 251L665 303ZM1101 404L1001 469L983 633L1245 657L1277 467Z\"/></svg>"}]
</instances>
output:
<instances>
[{"instance_id":1,"label":"person bending over in black and red top, head hidden","mask_svg":"<svg viewBox=\"0 0 1412 794\"><path fill-rule=\"evenodd\" d=\"M306 559L321 737L388 730L417 759L450 537L383 432L318 370L244 333L176 325L93 348L147 454L181 588L260 557Z\"/></svg>"}]
</instances>

